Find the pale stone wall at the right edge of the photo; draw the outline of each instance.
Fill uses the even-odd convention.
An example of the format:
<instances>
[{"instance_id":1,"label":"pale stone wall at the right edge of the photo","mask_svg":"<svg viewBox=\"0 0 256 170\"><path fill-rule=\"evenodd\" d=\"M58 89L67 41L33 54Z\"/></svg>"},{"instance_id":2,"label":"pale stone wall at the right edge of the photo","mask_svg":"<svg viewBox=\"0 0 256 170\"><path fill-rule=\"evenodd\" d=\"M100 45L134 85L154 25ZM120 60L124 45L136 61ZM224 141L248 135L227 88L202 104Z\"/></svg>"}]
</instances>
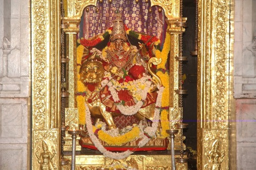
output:
<instances>
[{"instance_id":1,"label":"pale stone wall at the right edge of the photo","mask_svg":"<svg viewBox=\"0 0 256 170\"><path fill-rule=\"evenodd\" d=\"M237 169L256 162L256 1L235 0L234 98L237 117Z\"/></svg>"}]
</instances>

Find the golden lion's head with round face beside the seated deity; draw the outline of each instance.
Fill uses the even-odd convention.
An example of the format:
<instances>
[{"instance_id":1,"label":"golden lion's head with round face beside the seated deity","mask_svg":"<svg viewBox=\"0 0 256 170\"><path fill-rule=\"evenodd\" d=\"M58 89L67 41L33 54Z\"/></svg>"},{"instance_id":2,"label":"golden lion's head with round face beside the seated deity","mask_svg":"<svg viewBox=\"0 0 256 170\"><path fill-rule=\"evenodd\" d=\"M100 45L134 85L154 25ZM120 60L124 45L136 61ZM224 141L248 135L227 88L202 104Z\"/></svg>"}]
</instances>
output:
<instances>
[{"instance_id":1,"label":"golden lion's head with round face beside the seated deity","mask_svg":"<svg viewBox=\"0 0 256 170\"><path fill-rule=\"evenodd\" d=\"M104 67L99 61L89 60L82 64L79 74L84 85L98 84L104 76Z\"/></svg>"}]
</instances>

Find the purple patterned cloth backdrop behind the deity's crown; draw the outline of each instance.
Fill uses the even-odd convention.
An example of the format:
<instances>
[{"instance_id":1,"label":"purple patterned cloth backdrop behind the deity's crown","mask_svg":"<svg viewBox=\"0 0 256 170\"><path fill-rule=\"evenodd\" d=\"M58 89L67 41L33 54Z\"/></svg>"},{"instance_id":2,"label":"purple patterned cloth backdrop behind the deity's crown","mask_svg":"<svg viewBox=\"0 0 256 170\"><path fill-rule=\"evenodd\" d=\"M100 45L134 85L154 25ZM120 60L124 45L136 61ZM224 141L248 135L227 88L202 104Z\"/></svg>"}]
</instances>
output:
<instances>
[{"instance_id":1,"label":"purple patterned cloth backdrop behind the deity's crown","mask_svg":"<svg viewBox=\"0 0 256 170\"><path fill-rule=\"evenodd\" d=\"M103 33L106 29L112 26L112 19L115 11L122 13L122 18L127 27L130 29L145 33L148 35L154 35L164 41L166 23L164 12L158 12L159 7L152 7L152 12L149 12L150 1L145 3L145 0L140 0L138 4L131 0L113 0L103 1L103 3L97 2L97 7L89 6L89 12L84 10L81 23L79 38L84 37L86 39ZM96 13L96 8L99 9Z\"/></svg>"}]
</instances>

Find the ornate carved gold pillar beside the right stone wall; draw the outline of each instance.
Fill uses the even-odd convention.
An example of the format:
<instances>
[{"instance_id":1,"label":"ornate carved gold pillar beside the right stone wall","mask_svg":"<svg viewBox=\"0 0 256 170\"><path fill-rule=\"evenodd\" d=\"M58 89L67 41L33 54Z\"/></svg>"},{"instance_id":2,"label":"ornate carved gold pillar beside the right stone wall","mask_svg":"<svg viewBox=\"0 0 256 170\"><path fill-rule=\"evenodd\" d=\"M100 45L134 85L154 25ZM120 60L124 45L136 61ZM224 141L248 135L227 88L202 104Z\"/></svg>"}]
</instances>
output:
<instances>
[{"instance_id":1,"label":"ornate carved gold pillar beside the right stone wall","mask_svg":"<svg viewBox=\"0 0 256 170\"><path fill-rule=\"evenodd\" d=\"M198 169L236 169L229 165L233 1L198 5Z\"/></svg>"}]
</instances>

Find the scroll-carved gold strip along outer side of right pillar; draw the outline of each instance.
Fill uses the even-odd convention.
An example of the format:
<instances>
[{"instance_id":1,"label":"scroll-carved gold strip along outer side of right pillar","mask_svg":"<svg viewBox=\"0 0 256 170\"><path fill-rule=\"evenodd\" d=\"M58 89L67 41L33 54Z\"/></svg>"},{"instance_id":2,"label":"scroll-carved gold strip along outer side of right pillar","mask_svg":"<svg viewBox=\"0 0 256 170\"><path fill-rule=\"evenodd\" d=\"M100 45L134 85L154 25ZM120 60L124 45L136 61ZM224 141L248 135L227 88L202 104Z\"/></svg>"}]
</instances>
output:
<instances>
[{"instance_id":1,"label":"scroll-carved gold strip along outer side of right pillar","mask_svg":"<svg viewBox=\"0 0 256 170\"><path fill-rule=\"evenodd\" d=\"M223 121L228 119L228 108L226 103L228 97L227 84L228 80L226 79L226 21L228 20L228 13L226 7L226 1L219 0L217 1L216 7L216 108L213 119L216 120L213 122L213 127L216 129L228 128L228 122Z\"/></svg>"}]
</instances>

